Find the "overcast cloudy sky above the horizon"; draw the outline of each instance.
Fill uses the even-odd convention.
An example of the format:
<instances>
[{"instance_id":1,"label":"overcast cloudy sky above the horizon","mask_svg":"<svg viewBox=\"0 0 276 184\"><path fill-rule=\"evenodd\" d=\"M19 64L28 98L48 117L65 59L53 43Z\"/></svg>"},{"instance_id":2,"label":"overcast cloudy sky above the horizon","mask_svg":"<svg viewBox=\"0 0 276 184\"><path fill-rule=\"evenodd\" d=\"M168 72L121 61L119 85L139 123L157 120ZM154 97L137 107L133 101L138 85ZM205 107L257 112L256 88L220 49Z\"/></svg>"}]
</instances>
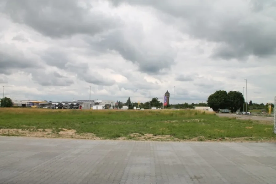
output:
<instances>
[{"instance_id":1,"label":"overcast cloudy sky above the horizon","mask_svg":"<svg viewBox=\"0 0 276 184\"><path fill-rule=\"evenodd\" d=\"M276 96L274 0L0 0L0 83L13 100L206 102ZM1 89L2 91L2 89Z\"/></svg>"}]
</instances>

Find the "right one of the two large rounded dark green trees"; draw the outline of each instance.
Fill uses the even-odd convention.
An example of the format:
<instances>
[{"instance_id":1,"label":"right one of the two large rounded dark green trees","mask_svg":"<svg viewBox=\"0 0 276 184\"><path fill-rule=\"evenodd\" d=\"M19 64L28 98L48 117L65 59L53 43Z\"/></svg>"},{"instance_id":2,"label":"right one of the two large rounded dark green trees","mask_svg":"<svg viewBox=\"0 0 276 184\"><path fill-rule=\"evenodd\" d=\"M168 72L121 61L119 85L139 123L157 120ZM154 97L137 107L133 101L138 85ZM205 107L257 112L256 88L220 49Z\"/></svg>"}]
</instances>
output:
<instances>
[{"instance_id":1,"label":"right one of the two large rounded dark green trees","mask_svg":"<svg viewBox=\"0 0 276 184\"><path fill-rule=\"evenodd\" d=\"M229 91L229 110L231 112L236 112L238 109L243 109L244 98L241 92L238 91Z\"/></svg>"}]
</instances>

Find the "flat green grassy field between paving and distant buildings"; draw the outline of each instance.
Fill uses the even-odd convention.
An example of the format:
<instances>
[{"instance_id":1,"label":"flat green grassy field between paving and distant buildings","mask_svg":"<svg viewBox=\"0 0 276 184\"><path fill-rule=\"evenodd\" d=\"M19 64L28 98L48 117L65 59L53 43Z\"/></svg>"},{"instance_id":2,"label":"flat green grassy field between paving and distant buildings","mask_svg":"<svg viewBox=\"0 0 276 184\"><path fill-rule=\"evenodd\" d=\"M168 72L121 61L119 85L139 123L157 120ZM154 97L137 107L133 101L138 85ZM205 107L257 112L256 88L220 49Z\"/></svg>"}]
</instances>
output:
<instances>
[{"instance_id":1,"label":"flat green grassy field between paving and distant buildings","mask_svg":"<svg viewBox=\"0 0 276 184\"><path fill-rule=\"evenodd\" d=\"M0 134L12 136L31 132L36 136L44 132L45 137L59 137L64 132L71 132L71 138L85 135L80 138L174 141L276 140L272 124L222 118L213 113L196 110L93 111L0 108L1 129Z\"/></svg>"}]
</instances>

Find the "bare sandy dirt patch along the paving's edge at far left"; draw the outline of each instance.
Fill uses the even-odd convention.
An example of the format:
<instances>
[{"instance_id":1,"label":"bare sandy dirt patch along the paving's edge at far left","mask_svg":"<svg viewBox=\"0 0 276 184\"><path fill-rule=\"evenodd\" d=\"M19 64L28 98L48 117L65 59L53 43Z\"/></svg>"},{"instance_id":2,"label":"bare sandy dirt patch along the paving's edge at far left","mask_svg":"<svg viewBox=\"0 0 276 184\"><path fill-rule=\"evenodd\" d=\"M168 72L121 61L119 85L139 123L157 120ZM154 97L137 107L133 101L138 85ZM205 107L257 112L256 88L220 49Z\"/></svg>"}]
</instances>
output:
<instances>
[{"instance_id":1,"label":"bare sandy dirt patch along the paving's edge at far left","mask_svg":"<svg viewBox=\"0 0 276 184\"><path fill-rule=\"evenodd\" d=\"M93 139L102 138L93 133L76 133L70 129L0 129L2 136L25 136L25 137L52 137L52 138L73 138L73 139Z\"/></svg>"}]
</instances>

